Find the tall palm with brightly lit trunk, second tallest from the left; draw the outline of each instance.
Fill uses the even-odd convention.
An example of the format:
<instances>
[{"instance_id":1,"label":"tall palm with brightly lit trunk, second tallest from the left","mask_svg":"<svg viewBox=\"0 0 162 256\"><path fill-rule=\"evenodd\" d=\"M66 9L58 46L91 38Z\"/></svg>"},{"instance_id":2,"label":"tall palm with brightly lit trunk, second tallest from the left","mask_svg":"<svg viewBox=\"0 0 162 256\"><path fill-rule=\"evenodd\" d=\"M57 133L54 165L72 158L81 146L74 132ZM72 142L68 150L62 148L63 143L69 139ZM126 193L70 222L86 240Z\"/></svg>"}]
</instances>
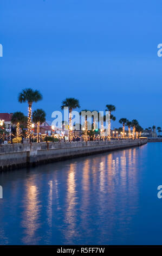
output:
<instances>
[{"instance_id":1,"label":"tall palm with brightly lit trunk, second tallest from the left","mask_svg":"<svg viewBox=\"0 0 162 256\"><path fill-rule=\"evenodd\" d=\"M79 100L75 98L66 98L62 101L61 109L69 108L69 141L72 141L72 111L75 108L80 108Z\"/></svg>"}]
</instances>

